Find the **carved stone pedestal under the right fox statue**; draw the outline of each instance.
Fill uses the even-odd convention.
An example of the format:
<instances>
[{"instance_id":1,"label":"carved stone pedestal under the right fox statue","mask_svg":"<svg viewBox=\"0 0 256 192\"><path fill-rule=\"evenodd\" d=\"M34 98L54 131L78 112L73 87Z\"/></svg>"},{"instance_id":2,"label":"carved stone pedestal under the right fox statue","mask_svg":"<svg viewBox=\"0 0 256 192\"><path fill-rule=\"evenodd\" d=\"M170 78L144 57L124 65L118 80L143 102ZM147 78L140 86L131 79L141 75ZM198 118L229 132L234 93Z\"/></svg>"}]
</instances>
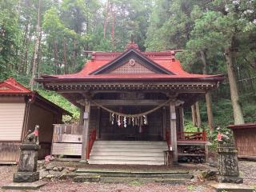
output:
<instances>
[{"instance_id":1,"label":"carved stone pedestal under the right fox statue","mask_svg":"<svg viewBox=\"0 0 256 192\"><path fill-rule=\"evenodd\" d=\"M219 144L218 171L218 182L243 182L243 179L239 178L238 150L233 144Z\"/></svg>"}]
</instances>

